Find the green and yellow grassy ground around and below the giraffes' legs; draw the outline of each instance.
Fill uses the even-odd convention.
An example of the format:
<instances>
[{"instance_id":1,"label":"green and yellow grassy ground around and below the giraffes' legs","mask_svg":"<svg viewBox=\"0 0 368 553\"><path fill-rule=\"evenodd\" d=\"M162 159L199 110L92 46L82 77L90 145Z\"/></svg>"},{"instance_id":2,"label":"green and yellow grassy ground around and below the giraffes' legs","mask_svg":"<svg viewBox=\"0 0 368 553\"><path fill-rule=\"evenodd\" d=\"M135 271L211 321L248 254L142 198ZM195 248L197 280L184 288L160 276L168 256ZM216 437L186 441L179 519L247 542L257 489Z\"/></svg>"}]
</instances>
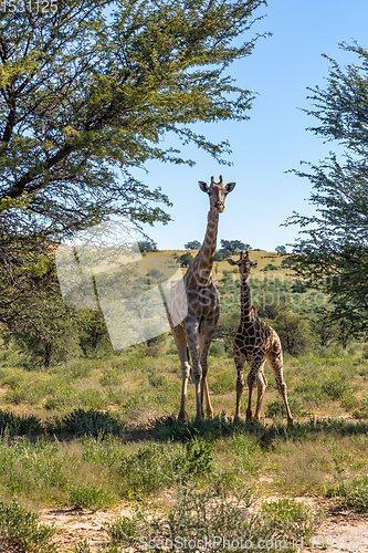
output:
<instances>
[{"instance_id":1,"label":"green and yellow grassy ground around and below the giraffes' legs","mask_svg":"<svg viewBox=\"0 0 368 553\"><path fill-rule=\"evenodd\" d=\"M25 371L15 353L3 356L0 492L4 505L12 504L7 501L14 494L19 507L34 510L146 504L151 514L157 509L157 517L164 517L164 530L154 525L156 514L145 522L145 531L157 540L170 535L169 521L172 529L194 524L193 513L185 515L182 505L194 505L204 492L209 493L202 500L213 531L223 523L221 517L232 520L234 498L241 498L238 508L243 514L255 499L263 504L253 524L240 528L234 523L229 536L238 530L256 536L256 528L280 539L291 539L292 533L294 538L309 535L313 525L307 525L307 517L313 514L316 525L322 519L316 510L303 511L305 505L295 501L301 494L315 497L316 503L328 495L347 509L368 509L367 352L360 347L341 355L326 348L320 355L297 359L285 356L295 420L286 427L283 403L267 368L263 418L245 422L244 393L242 417L234 420L235 369L219 348L209 358L215 416L202 422L193 419L190 384L188 420L178 421L181 378L177 354L167 353L171 345L168 342L166 353L150 355L144 346L136 346L49 371ZM172 495L177 489L181 495L172 504L166 493ZM190 490L193 495L188 495ZM275 494L280 501L269 504L266 498ZM212 510L213 501L223 510ZM287 526L294 519L297 525ZM112 524L112 543L105 551L117 553L133 543L139 517ZM196 524L199 530L193 535L200 539L204 536L202 522ZM80 553L90 551L86 542L77 547Z\"/></svg>"}]
</instances>

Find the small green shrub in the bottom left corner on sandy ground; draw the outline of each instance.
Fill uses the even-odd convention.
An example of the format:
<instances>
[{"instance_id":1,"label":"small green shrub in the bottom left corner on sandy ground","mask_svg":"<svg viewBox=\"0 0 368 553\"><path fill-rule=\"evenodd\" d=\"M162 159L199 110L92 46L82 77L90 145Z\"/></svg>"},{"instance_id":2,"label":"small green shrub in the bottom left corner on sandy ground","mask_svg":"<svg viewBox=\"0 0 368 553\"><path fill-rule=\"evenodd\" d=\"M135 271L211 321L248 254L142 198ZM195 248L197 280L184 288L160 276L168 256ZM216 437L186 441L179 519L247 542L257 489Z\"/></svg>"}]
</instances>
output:
<instances>
[{"instance_id":1,"label":"small green shrub in the bottom left corner on sandy ground","mask_svg":"<svg viewBox=\"0 0 368 553\"><path fill-rule=\"evenodd\" d=\"M15 500L11 504L0 502L0 534L15 542L25 551L54 553L56 545L50 543L55 531L42 524L39 515L23 509Z\"/></svg>"}]
</instances>

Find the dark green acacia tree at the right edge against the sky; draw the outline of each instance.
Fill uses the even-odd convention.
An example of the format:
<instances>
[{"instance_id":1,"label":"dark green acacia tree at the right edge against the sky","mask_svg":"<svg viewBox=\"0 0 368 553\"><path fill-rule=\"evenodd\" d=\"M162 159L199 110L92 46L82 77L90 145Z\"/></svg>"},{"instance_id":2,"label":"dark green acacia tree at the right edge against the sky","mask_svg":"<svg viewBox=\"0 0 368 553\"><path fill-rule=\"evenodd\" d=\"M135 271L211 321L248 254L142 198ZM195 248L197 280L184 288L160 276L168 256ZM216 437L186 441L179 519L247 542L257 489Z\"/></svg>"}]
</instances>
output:
<instances>
[{"instance_id":1,"label":"dark green acacia tree at the right edge against the sky","mask_svg":"<svg viewBox=\"0 0 368 553\"><path fill-rule=\"evenodd\" d=\"M313 184L316 215L294 213L286 223L302 226L294 243L293 269L307 284L320 289L332 304L325 316L348 334L367 336L368 319L368 52L341 44L359 64L341 69L334 60L328 85L312 90L319 119L312 131L345 147L309 171L297 171Z\"/></svg>"}]
</instances>

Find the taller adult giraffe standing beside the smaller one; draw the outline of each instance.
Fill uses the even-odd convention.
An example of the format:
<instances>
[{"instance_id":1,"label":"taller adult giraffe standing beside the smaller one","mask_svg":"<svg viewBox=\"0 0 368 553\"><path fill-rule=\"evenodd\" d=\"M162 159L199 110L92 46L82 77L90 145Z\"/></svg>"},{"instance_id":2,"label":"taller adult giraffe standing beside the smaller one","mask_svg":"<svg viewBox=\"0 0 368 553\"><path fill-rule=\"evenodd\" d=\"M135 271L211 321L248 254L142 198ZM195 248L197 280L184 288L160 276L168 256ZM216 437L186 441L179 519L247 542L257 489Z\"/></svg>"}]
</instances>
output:
<instances>
[{"instance_id":1,"label":"taller adult giraffe standing beside the smaller one","mask_svg":"<svg viewBox=\"0 0 368 553\"><path fill-rule=\"evenodd\" d=\"M181 323L174 325L168 310L169 323L171 326L174 340L178 349L181 365L181 400L178 419L186 418L186 397L188 380L190 374L189 356L192 363L192 378L196 385L196 408L197 420L203 419L203 397L206 403L206 415L212 418L213 409L210 401L207 383L207 356L212 341L212 336L219 320L219 292L212 280L212 265L217 247L219 213L224 210L224 200L230 194L235 182L224 185L222 175L220 181L214 182L211 177L211 184L208 185L200 180L200 189L209 195L210 211L203 243L196 258L189 265L181 285L185 289L185 302L187 314ZM172 286L175 289L176 286ZM175 290L170 291L175 296Z\"/></svg>"}]
</instances>

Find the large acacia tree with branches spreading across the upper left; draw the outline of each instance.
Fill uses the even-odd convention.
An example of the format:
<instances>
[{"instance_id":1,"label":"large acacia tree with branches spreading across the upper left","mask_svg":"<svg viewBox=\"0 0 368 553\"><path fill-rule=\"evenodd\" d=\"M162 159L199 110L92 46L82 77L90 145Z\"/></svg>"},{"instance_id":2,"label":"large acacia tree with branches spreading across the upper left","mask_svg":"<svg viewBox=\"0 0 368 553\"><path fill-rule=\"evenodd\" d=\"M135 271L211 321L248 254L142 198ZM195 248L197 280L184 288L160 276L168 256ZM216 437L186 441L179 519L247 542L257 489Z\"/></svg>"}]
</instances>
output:
<instances>
[{"instance_id":1,"label":"large acacia tree with branches spreading across the upper left","mask_svg":"<svg viewBox=\"0 0 368 553\"><path fill-rule=\"evenodd\" d=\"M248 118L252 94L224 71L252 52L259 35L248 31L264 3L59 0L56 11L0 11L0 321L31 324L36 298L42 311L27 270L52 255L51 240L113 215L169 220L168 197L132 175L148 159L193 164L164 136L224 163L228 142L191 126Z\"/></svg>"}]
</instances>

